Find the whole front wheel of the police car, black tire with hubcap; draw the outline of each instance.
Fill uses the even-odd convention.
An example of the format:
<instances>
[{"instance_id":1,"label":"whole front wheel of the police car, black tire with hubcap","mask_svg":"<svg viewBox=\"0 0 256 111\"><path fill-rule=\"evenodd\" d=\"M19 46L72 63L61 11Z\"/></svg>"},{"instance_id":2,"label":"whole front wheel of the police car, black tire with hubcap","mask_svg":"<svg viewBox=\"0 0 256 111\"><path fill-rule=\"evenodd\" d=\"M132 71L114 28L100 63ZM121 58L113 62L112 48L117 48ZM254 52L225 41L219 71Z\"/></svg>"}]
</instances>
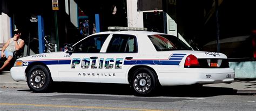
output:
<instances>
[{"instance_id":1,"label":"whole front wheel of the police car, black tire with hubcap","mask_svg":"<svg viewBox=\"0 0 256 111\"><path fill-rule=\"evenodd\" d=\"M50 71L43 65L32 66L28 71L27 83L33 92L46 92L49 89L52 79Z\"/></svg>"}]
</instances>

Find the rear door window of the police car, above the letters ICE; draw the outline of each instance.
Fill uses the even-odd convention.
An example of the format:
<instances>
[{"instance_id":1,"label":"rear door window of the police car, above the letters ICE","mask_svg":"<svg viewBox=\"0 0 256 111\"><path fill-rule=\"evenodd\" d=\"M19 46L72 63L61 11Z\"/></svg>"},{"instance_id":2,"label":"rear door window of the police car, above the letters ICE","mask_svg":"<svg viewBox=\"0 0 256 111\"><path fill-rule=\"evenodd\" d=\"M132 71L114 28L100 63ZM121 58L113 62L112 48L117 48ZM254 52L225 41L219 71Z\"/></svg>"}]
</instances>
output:
<instances>
[{"instance_id":1,"label":"rear door window of the police car, above the letters ICE","mask_svg":"<svg viewBox=\"0 0 256 111\"><path fill-rule=\"evenodd\" d=\"M133 35L113 34L106 53L136 53L137 41Z\"/></svg>"}]
</instances>

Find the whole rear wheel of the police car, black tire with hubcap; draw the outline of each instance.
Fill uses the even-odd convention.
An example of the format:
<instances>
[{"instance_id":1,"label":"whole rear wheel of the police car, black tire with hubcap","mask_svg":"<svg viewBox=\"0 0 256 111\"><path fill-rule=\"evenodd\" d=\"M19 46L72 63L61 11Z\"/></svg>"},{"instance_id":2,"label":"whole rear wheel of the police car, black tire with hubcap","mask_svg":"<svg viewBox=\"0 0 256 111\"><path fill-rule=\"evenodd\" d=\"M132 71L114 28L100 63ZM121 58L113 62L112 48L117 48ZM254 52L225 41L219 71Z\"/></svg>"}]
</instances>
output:
<instances>
[{"instance_id":1,"label":"whole rear wheel of the police car, black tire with hubcap","mask_svg":"<svg viewBox=\"0 0 256 111\"><path fill-rule=\"evenodd\" d=\"M151 95L157 87L156 74L147 68L139 68L134 71L131 80L136 95Z\"/></svg>"}]
</instances>

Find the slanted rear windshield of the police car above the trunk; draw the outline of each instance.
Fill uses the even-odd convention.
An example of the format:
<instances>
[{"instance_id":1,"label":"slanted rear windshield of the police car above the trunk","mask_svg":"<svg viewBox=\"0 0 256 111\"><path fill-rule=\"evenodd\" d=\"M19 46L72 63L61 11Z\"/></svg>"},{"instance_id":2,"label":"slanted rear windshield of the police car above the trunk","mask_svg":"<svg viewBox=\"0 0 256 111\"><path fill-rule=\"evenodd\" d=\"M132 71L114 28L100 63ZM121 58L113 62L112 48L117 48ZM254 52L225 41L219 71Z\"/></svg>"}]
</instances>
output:
<instances>
[{"instance_id":1,"label":"slanted rear windshield of the police car above the trunk","mask_svg":"<svg viewBox=\"0 0 256 111\"><path fill-rule=\"evenodd\" d=\"M157 51L192 50L183 41L172 35L149 35Z\"/></svg>"}]
</instances>

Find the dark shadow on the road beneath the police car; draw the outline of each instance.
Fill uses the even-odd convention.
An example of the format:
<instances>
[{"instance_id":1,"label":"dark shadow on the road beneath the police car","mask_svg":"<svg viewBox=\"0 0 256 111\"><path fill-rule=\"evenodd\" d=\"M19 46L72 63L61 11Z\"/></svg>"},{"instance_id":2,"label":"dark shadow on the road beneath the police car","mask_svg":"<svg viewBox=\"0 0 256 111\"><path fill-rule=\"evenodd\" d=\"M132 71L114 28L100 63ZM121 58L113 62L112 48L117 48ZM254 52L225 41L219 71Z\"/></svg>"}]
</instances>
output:
<instances>
[{"instance_id":1,"label":"dark shadow on the road beneath the police car","mask_svg":"<svg viewBox=\"0 0 256 111\"><path fill-rule=\"evenodd\" d=\"M23 90L25 91L25 90ZM27 90L26 90L27 91ZM54 83L49 93L86 93L86 94L117 94L135 95L130 85L126 84L95 84L95 83ZM224 87L192 87L172 86L160 87L150 97L213 97L217 95L236 95L237 90Z\"/></svg>"}]
</instances>

